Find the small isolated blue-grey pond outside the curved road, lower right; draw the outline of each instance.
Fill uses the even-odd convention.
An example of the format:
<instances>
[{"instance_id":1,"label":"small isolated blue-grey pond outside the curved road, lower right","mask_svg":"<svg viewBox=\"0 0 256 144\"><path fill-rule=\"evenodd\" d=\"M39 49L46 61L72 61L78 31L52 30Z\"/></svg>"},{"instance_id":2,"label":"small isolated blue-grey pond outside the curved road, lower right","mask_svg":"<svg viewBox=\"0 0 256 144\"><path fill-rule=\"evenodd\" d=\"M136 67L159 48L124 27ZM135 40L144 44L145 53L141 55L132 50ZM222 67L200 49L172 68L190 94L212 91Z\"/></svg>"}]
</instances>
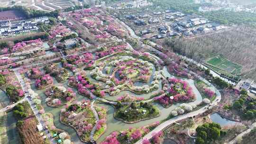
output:
<instances>
[{"instance_id":1,"label":"small isolated blue-grey pond outside the curved road, lower right","mask_svg":"<svg viewBox=\"0 0 256 144\"><path fill-rule=\"evenodd\" d=\"M239 122L231 121L229 119L221 117L218 113L211 114L210 119L213 122L218 123L220 126L230 126L239 124Z\"/></svg>"}]
</instances>

